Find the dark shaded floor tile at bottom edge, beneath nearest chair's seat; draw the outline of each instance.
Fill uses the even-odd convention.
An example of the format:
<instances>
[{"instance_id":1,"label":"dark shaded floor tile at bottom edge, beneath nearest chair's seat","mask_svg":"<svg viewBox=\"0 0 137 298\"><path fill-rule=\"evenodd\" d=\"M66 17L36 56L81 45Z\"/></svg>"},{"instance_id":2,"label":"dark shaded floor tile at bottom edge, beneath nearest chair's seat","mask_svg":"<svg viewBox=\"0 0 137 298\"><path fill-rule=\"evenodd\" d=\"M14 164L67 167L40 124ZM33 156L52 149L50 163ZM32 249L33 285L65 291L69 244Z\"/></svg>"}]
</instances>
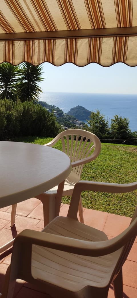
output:
<instances>
[{"instance_id":1,"label":"dark shaded floor tile at bottom edge, beneath nearest chair's seat","mask_svg":"<svg viewBox=\"0 0 137 298\"><path fill-rule=\"evenodd\" d=\"M34 291L27 287L22 287L19 293L14 296L15 298L51 298L49 295L46 295L44 293Z\"/></svg>"}]
</instances>

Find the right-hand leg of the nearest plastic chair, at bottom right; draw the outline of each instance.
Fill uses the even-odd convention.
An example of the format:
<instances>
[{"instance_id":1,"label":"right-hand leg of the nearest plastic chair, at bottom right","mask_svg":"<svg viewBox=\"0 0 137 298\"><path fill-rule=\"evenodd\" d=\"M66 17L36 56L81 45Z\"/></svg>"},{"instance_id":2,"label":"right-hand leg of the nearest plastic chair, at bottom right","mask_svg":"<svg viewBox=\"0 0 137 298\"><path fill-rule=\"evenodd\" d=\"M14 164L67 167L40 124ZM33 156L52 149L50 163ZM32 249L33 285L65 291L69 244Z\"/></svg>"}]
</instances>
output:
<instances>
[{"instance_id":1,"label":"right-hand leg of the nearest plastic chair, at bottom right","mask_svg":"<svg viewBox=\"0 0 137 298\"><path fill-rule=\"evenodd\" d=\"M123 298L123 277L122 268L117 274L117 277L113 280L114 296L115 298Z\"/></svg>"}]
</instances>

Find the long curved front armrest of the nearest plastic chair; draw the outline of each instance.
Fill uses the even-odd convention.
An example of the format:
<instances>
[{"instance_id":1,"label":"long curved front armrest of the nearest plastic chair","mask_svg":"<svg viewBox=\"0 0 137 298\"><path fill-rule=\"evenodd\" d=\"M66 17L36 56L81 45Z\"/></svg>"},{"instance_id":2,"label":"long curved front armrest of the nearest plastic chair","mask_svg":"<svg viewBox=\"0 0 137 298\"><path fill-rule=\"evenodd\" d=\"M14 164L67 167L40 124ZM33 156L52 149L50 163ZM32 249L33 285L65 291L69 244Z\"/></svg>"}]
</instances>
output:
<instances>
[{"instance_id":1,"label":"long curved front armrest of the nearest plastic chair","mask_svg":"<svg viewBox=\"0 0 137 298\"><path fill-rule=\"evenodd\" d=\"M21 244L24 248L27 247L28 250L31 249L32 244L35 244L73 254L98 257L110 254L123 247L136 235L136 227L137 218L124 232L115 238L96 242L73 239L34 230L24 230L16 236L14 246L17 246L17 244L20 246Z\"/></svg>"}]
</instances>

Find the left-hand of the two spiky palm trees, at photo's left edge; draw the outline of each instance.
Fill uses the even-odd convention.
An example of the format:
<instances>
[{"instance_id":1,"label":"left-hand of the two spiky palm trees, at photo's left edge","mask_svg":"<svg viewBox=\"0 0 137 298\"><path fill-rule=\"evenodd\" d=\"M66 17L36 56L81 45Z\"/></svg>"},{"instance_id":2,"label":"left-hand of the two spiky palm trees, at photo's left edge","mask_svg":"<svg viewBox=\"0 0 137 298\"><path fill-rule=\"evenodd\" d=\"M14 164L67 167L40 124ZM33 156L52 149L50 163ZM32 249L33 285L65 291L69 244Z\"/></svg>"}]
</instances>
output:
<instances>
[{"instance_id":1,"label":"left-hand of the two spiky palm trees, at photo's left edge","mask_svg":"<svg viewBox=\"0 0 137 298\"><path fill-rule=\"evenodd\" d=\"M19 66L8 62L0 64L0 98L12 99L17 97L17 83L19 79Z\"/></svg>"}]
</instances>

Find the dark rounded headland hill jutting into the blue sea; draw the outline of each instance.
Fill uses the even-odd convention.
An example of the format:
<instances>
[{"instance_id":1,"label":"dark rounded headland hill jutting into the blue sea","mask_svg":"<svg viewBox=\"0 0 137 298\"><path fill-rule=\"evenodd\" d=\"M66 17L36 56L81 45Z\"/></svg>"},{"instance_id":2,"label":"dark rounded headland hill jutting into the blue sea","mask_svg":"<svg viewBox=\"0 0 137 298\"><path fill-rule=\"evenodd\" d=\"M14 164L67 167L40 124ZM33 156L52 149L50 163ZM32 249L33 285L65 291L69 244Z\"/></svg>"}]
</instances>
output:
<instances>
[{"instance_id":1,"label":"dark rounded headland hill jutting into the blue sea","mask_svg":"<svg viewBox=\"0 0 137 298\"><path fill-rule=\"evenodd\" d=\"M71 108L67 114L76 117L78 120L85 121L89 119L91 111L85 109L81 105L77 105L77 107Z\"/></svg>"}]
</instances>

